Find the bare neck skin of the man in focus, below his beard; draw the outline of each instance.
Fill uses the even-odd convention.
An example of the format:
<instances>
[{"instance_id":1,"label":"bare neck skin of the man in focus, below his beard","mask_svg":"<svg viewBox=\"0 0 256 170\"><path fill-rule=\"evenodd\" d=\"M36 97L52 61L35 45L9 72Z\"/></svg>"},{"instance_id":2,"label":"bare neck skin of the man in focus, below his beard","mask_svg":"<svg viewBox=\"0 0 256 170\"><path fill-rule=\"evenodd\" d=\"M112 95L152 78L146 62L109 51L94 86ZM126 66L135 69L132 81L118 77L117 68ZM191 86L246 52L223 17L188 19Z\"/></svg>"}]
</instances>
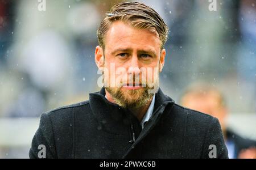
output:
<instances>
[{"instance_id":1,"label":"bare neck skin of the man in focus, below his beard","mask_svg":"<svg viewBox=\"0 0 256 170\"><path fill-rule=\"evenodd\" d=\"M106 91L106 99L108 99L111 103L115 103L113 97L109 94L107 90ZM152 101L151 99L147 102L146 105L143 105L142 107L136 108L136 109L130 109L131 113L134 114L138 118L138 120L141 122L145 113L147 112L148 107L150 106L150 103Z\"/></svg>"}]
</instances>

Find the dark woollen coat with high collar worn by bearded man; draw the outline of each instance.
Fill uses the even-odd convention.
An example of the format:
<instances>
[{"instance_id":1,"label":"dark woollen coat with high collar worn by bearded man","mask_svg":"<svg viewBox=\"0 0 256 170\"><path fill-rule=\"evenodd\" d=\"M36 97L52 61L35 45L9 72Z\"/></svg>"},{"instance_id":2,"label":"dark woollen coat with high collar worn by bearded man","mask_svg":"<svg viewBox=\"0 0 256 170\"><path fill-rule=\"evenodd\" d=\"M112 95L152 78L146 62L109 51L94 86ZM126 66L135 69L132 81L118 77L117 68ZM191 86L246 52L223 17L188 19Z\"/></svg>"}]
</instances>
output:
<instances>
[{"instance_id":1,"label":"dark woollen coat with high collar worn by bearded man","mask_svg":"<svg viewBox=\"0 0 256 170\"><path fill-rule=\"evenodd\" d=\"M142 130L138 119L105 98L105 88L89 100L43 113L32 140L46 158L228 158L217 118L174 103L159 89L152 117Z\"/></svg>"}]
</instances>

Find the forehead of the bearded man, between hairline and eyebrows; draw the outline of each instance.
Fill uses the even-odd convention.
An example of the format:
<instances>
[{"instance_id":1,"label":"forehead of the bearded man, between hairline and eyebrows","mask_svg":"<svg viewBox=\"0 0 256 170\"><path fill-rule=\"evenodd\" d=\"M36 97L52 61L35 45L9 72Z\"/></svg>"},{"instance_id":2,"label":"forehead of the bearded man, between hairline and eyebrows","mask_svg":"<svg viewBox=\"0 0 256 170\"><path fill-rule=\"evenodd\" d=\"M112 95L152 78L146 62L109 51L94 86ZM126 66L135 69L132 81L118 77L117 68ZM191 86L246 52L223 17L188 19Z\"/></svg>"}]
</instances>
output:
<instances>
[{"instance_id":1,"label":"forehead of the bearded man, between hairline and eyebrows","mask_svg":"<svg viewBox=\"0 0 256 170\"><path fill-rule=\"evenodd\" d=\"M160 50L161 41L156 31L140 29L131 25L116 21L110 25L105 36L105 48L154 49Z\"/></svg>"}]
</instances>

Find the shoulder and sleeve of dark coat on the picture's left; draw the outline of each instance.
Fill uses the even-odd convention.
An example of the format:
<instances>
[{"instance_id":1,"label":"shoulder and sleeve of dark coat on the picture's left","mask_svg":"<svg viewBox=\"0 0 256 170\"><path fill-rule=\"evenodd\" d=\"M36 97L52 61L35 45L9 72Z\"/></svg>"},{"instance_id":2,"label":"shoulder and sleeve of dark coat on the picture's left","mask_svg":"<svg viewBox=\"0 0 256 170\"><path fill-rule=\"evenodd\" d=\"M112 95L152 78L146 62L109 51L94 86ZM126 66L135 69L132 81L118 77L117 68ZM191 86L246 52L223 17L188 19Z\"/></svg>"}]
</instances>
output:
<instances>
[{"instance_id":1,"label":"shoulder and sleeve of dark coat on the picture's left","mask_svg":"<svg viewBox=\"0 0 256 170\"><path fill-rule=\"evenodd\" d=\"M43 113L39 128L32 140L30 158L38 158L39 145L46 146L47 158L73 158L75 113L78 111L88 113L86 112L88 103L83 101Z\"/></svg>"}]
</instances>

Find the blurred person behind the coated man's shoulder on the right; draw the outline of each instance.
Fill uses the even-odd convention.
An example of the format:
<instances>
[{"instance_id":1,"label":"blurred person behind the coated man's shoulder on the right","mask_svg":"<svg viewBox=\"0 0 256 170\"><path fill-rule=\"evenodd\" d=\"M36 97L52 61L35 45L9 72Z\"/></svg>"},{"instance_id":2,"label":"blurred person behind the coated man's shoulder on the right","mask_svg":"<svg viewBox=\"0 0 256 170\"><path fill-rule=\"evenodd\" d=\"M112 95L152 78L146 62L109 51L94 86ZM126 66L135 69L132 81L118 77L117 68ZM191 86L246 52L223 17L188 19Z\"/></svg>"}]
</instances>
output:
<instances>
[{"instance_id":1,"label":"blurred person behind the coated man's shoulder on the right","mask_svg":"<svg viewBox=\"0 0 256 170\"><path fill-rule=\"evenodd\" d=\"M256 159L256 141L242 138L226 125L228 108L224 96L217 88L207 83L196 83L181 96L181 105L218 118L224 134L229 158Z\"/></svg>"}]
</instances>

